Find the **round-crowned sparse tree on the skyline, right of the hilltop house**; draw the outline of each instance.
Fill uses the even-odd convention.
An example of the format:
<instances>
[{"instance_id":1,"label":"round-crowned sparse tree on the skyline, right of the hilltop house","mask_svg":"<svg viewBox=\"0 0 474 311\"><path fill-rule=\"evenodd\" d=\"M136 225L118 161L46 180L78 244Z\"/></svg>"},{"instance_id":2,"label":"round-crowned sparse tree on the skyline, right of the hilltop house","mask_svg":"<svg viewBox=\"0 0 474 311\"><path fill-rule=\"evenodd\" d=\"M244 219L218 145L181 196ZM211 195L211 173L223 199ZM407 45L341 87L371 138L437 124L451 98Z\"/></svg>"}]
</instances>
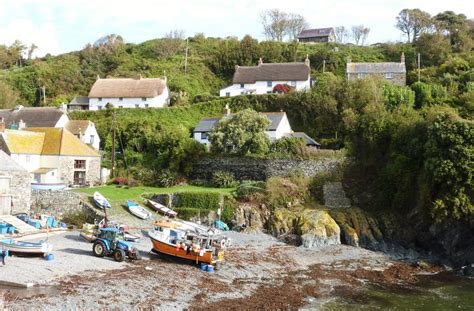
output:
<instances>
[{"instance_id":1,"label":"round-crowned sparse tree on the skyline, right of the hilltop house","mask_svg":"<svg viewBox=\"0 0 474 311\"><path fill-rule=\"evenodd\" d=\"M403 9L397 16L396 27L407 36L408 43L416 41L432 25L431 15L419 9Z\"/></svg>"}]
</instances>

